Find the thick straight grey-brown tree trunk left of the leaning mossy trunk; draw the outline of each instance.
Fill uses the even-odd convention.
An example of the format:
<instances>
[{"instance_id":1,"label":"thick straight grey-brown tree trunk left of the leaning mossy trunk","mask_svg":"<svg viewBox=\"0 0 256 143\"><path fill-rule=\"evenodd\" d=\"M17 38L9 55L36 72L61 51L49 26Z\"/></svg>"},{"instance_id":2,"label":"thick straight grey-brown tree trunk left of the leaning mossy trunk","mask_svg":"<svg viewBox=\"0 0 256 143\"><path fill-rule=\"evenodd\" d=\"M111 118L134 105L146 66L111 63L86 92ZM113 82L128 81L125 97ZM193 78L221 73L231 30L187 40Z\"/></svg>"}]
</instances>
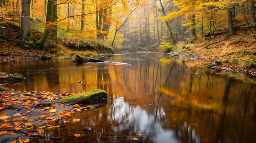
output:
<instances>
[{"instance_id":1,"label":"thick straight grey-brown tree trunk left of the leaning mossy trunk","mask_svg":"<svg viewBox=\"0 0 256 143\"><path fill-rule=\"evenodd\" d=\"M20 42L36 41L31 35L30 29L30 3L31 0L21 0L21 27L20 27Z\"/></svg>"}]
</instances>

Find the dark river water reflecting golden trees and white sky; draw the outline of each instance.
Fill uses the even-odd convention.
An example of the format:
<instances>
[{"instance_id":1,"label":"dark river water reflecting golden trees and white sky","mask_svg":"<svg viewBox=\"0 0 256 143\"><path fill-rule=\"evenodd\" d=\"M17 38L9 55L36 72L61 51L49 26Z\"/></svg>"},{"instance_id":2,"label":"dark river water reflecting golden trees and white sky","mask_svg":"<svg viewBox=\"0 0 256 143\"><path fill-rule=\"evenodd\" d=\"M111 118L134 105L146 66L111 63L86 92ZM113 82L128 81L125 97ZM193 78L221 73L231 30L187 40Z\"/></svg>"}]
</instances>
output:
<instances>
[{"instance_id":1,"label":"dark river water reflecting golden trees and white sky","mask_svg":"<svg viewBox=\"0 0 256 143\"><path fill-rule=\"evenodd\" d=\"M129 53L106 57L103 60L115 62L100 64L0 62L0 71L26 77L5 85L19 91L99 88L112 97L102 108L69 117L81 119L78 122L45 130L44 135L63 139L34 139L34 143L256 142L255 79L240 73L215 73L203 62L165 58L163 54ZM80 79L82 83L77 82ZM83 136L75 137L77 133Z\"/></svg>"}]
</instances>

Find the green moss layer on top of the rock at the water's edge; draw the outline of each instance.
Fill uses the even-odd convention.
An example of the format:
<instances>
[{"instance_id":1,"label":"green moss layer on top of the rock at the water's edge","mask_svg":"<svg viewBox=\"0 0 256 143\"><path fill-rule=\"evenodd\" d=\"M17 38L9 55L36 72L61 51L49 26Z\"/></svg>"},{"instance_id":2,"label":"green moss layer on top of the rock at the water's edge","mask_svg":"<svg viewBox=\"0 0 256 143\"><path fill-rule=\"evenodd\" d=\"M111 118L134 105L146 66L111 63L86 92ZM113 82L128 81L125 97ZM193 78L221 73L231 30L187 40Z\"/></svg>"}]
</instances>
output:
<instances>
[{"instance_id":1,"label":"green moss layer on top of the rock at the water's edge","mask_svg":"<svg viewBox=\"0 0 256 143\"><path fill-rule=\"evenodd\" d=\"M66 103L66 102L75 101L77 99L86 100L89 97L92 97L92 96L95 96L95 95L98 95L98 94L102 94L102 93L106 94L106 96L107 96L106 91L101 90L101 89L94 89L94 90L91 90L91 91L88 91L88 92L80 93L78 95L71 95L71 96L68 96L68 97L63 97L63 98L59 99L57 102Z\"/></svg>"}]
</instances>

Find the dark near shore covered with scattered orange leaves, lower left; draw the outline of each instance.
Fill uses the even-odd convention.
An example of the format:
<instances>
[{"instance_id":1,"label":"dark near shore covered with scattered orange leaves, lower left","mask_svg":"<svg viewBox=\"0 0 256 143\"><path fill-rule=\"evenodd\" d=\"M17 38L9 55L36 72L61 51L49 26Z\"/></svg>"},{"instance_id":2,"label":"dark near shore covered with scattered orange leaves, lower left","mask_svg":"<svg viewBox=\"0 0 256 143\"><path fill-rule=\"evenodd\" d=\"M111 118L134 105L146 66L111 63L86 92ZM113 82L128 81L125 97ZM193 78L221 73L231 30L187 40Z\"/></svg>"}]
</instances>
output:
<instances>
[{"instance_id":1,"label":"dark near shore covered with scattered orange leaves, lower left","mask_svg":"<svg viewBox=\"0 0 256 143\"><path fill-rule=\"evenodd\" d=\"M26 143L31 137L51 138L43 135L44 130L80 121L72 118L72 114L102 106L99 102L84 107L55 102L61 97L76 94L79 93L17 92L0 87L0 143Z\"/></svg>"}]
</instances>

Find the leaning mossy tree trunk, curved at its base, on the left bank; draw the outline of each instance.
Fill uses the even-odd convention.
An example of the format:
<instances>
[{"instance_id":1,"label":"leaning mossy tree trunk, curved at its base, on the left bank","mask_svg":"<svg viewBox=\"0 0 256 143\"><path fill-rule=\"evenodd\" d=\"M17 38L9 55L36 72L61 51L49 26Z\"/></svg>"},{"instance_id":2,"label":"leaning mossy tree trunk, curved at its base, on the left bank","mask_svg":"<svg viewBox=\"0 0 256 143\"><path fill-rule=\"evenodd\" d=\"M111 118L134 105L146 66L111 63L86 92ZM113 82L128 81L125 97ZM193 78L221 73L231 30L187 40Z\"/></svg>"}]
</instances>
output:
<instances>
[{"instance_id":1,"label":"leaning mossy tree trunk, curved at its base, on the left bank","mask_svg":"<svg viewBox=\"0 0 256 143\"><path fill-rule=\"evenodd\" d=\"M53 20L53 4L55 1L53 0L48 0L47 3L47 16L46 16L46 24L45 24L45 31L43 33L42 38L36 43L37 46L39 46L42 50L46 51L47 46L49 44L49 40L51 37L51 22Z\"/></svg>"}]
</instances>

